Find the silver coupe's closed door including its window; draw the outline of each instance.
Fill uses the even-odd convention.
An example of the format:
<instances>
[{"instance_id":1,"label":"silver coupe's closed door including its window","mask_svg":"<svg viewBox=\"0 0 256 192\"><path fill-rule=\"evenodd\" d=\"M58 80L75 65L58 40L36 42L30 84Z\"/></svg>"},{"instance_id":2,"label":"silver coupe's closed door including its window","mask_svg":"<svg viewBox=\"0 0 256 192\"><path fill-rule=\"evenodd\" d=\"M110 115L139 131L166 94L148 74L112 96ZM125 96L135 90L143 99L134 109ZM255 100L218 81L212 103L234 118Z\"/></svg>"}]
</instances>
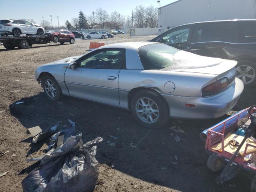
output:
<instances>
[{"instance_id":1,"label":"silver coupe's closed door including its window","mask_svg":"<svg viewBox=\"0 0 256 192\"><path fill-rule=\"evenodd\" d=\"M100 49L86 54L76 61L76 68L65 72L69 94L118 106L118 76L124 65L124 49Z\"/></svg>"}]
</instances>

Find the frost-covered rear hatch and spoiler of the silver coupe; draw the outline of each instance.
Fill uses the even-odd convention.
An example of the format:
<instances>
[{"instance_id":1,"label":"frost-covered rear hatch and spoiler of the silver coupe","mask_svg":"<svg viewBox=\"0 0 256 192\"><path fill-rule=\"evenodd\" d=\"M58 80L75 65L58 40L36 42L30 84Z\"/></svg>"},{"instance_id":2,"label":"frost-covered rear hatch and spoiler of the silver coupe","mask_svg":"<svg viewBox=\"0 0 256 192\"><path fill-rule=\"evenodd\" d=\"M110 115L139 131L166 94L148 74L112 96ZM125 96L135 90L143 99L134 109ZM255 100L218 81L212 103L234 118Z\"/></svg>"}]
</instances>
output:
<instances>
[{"instance_id":1,"label":"frost-covered rear hatch and spoiler of the silver coupe","mask_svg":"<svg viewBox=\"0 0 256 192\"><path fill-rule=\"evenodd\" d=\"M163 70L220 75L237 64L237 62L233 60L205 57L186 51L176 52L172 60L173 64Z\"/></svg>"}]
</instances>

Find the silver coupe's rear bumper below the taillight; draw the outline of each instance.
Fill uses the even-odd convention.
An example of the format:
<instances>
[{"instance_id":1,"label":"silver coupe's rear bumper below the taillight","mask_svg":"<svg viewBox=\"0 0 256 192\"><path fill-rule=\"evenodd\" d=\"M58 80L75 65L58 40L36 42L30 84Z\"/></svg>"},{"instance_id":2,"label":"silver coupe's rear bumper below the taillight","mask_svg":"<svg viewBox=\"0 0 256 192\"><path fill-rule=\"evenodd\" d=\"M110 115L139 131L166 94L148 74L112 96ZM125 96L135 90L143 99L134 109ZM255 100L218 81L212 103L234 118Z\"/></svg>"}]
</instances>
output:
<instances>
[{"instance_id":1,"label":"silver coupe's rear bumper below the taillight","mask_svg":"<svg viewBox=\"0 0 256 192\"><path fill-rule=\"evenodd\" d=\"M210 97L182 97L162 94L168 103L170 117L188 119L218 118L226 114L237 103L244 89L243 82L236 78L227 90ZM187 107L185 104L194 104Z\"/></svg>"}]
</instances>

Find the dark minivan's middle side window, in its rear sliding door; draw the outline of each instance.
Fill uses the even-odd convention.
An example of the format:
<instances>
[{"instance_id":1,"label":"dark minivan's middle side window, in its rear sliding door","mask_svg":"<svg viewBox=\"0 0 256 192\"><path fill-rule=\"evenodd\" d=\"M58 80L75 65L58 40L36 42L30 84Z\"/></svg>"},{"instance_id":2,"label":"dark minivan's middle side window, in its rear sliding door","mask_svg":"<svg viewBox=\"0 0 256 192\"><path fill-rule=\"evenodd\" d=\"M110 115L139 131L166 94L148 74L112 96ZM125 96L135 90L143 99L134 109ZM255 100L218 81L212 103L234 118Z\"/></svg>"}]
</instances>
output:
<instances>
[{"instance_id":1,"label":"dark minivan's middle side window, in its rear sliding door","mask_svg":"<svg viewBox=\"0 0 256 192\"><path fill-rule=\"evenodd\" d=\"M230 22L197 24L192 43L198 42L237 42L237 26Z\"/></svg>"}]
</instances>

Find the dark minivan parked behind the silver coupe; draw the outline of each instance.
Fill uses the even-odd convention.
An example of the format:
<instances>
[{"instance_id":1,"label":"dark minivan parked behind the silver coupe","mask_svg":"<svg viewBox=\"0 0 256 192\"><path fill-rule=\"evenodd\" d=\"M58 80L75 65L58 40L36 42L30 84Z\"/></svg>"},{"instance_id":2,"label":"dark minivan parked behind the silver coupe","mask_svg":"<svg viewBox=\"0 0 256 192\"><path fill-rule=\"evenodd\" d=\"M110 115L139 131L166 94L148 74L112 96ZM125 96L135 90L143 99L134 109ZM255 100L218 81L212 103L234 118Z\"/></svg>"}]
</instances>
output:
<instances>
[{"instance_id":1,"label":"dark minivan parked behind the silver coupe","mask_svg":"<svg viewBox=\"0 0 256 192\"><path fill-rule=\"evenodd\" d=\"M236 76L245 86L256 86L256 20L185 24L151 41L202 56L236 60Z\"/></svg>"}]
</instances>

